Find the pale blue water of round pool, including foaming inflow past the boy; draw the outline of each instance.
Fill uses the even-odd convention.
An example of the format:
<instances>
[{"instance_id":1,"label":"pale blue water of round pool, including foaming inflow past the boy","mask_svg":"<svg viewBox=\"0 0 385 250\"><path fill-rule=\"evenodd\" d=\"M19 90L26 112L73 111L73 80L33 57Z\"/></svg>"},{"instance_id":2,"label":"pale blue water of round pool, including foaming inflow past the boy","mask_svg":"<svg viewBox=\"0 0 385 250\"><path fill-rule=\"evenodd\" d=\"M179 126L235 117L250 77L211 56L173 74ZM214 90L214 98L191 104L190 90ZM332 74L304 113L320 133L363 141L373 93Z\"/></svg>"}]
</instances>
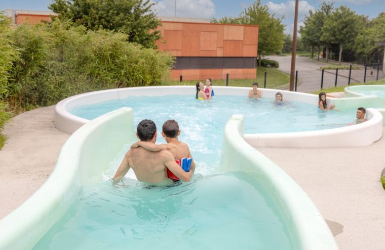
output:
<instances>
[{"instance_id":1,"label":"pale blue water of round pool, including foaming inflow past the boy","mask_svg":"<svg viewBox=\"0 0 385 250\"><path fill-rule=\"evenodd\" d=\"M189 145L199 166L197 172L203 175L217 169L223 128L234 114L245 115L245 133L321 130L356 122L356 109L320 111L317 104L286 102L277 105L272 98L250 100L229 95L218 95L210 101L198 101L187 95L132 96L75 107L69 112L91 120L121 107L133 108L135 128L142 119L153 120L158 129L157 143L165 143L161 136L163 123L175 119L181 129L179 140ZM122 158L128 149L123 150Z\"/></svg>"}]
</instances>

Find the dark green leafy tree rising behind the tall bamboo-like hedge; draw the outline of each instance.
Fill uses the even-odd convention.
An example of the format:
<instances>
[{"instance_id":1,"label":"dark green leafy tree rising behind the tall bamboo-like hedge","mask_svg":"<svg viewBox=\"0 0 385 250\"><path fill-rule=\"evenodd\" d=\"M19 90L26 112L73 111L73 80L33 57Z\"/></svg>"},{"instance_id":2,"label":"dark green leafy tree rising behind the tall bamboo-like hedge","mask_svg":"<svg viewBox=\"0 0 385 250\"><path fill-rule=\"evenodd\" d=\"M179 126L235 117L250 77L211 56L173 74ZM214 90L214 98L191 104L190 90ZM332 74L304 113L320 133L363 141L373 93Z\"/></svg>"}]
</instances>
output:
<instances>
[{"instance_id":1,"label":"dark green leafy tree rising behind the tall bamboo-like hedge","mask_svg":"<svg viewBox=\"0 0 385 250\"><path fill-rule=\"evenodd\" d=\"M71 20L89 30L100 28L123 32L128 41L156 47L161 22L151 11L150 0L53 0L49 6L61 20Z\"/></svg>"}]
</instances>

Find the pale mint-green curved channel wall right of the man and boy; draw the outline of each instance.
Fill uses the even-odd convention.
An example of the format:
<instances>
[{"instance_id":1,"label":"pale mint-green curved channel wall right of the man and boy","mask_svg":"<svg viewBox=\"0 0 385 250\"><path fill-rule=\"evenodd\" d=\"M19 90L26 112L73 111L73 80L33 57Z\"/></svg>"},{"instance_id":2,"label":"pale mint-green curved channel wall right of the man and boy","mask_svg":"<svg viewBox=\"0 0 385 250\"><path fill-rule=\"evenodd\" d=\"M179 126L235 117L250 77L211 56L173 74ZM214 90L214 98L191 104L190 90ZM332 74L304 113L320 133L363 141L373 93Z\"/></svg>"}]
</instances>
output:
<instances>
[{"instance_id":1,"label":"pale mint-green curved channel wall right of the man and boy","mask_svg":"<svg viewBox=\"0 0 385 250\"><path fill-rule=\"evenodd\" d=\"M283 213L294 249L338 249L310 197L280 167L245 141L243 115L234 115L224 127L220 169L243 171L264 187Z\"/></svg>"}]
</instances>

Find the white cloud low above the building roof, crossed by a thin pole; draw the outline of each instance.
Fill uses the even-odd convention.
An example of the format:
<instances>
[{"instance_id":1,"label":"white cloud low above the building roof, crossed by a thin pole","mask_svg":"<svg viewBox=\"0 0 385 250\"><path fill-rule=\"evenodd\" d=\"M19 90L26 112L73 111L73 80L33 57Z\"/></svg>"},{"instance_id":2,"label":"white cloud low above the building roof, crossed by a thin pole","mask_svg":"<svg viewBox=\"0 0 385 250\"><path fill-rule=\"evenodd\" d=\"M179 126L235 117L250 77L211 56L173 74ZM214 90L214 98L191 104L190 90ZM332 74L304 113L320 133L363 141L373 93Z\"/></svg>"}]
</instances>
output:
<instances>
[{"instance_id":1,"label":"white cloud low above the building roof, crossed by a thin pole","mask_svg":"<svg viewBox=\"0 0 385 250\"><path fill-rule=\"evenodd\" d=\"M176 12L175 12L176 3ZM215 5L211 0L163 0L153 6L158 16L211 18L215 15Z\"/></svg>"}]
</instances>

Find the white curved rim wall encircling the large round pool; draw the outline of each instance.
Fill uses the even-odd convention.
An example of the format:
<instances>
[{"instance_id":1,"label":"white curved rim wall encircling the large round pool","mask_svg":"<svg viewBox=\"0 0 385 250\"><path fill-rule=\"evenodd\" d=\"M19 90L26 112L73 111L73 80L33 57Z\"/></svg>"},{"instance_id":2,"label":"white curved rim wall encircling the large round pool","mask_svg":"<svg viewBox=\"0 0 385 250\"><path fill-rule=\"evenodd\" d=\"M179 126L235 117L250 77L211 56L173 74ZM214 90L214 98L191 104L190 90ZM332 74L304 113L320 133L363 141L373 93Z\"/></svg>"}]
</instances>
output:
<instances>
[{"instance_id":1,"label":"white curved rim wall encircling the large round pool","mask_svg":"<svg viewBox=\"0 0 385 250\"><path fill-rule=\"evenodd\" d=\"M213 86L216 95L239 95L247 98L249 90L247 87L224 87ZM298 101L318 105L319 97L315 94L293 92L286 90L264 89L261 90L261 97L275 98L277 92L281 92L284 101ZM55 127L61 131L72 133L89 120L74 116L69 111L79 105L87 105L108 101L110 99L125 99L129 96L161 96L161 95L191 95L194 98L196 93L195 86L153 86L153 87L132 87L119 88L89 92L75 95L59 102L55 107ZM215 96L214 96L215 98ZM347 98L345 98L347 99ZM343 102L327 97L330 107L333 102L337 102L336 107L343 107ZM350 102L350 101L345 101ZM237 105L237 104L234 104ZM356 104L357 106L357 104ZM328 112L328 111L325 111ZM343 128L290 132L290 133L268 133L268 134L247 134L245 139L252 146L272 146L272 147L330 147L330 146L366 146L377 141L382 136L383 119L379 113L371 112L367 117L373 118L364 125L347 126ZM245 117L247 119L247 117ZM353 120L354 118L352 118ZM380 129L381 128L381 129ZM370 130L370 131L367 131ZM374 132L373 132L374 131ZM353 140L357 136L360 139Z\"/></svg>"}]
</instances>

